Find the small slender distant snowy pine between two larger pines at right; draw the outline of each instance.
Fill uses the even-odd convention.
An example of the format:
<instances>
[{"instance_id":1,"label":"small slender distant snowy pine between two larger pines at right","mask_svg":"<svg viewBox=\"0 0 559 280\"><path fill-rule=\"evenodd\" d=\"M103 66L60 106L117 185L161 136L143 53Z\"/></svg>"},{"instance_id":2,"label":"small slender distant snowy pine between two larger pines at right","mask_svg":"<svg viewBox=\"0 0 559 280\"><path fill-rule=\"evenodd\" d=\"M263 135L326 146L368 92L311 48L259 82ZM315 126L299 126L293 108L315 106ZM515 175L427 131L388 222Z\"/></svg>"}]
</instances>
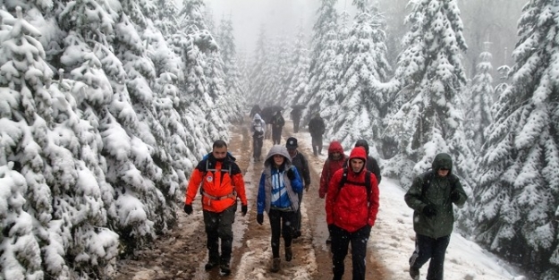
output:
<instances>
[{"instance_id":1,"label":"small slender distant snowy pine between two larger pines at right","mask_svg":"<svg viewBox=\"0 0 559 280\"><path fill-rule=\"evenodd\" d=\"M486 51L479 55L479 64L476 67L476 76L473 78L466 119L469 120L467 129L473 132L474 150L480 150L486 141L484 130L493 121L491 106L493 106L493 65L491 64L491 53Z\"/></svg>"}]
</instances>

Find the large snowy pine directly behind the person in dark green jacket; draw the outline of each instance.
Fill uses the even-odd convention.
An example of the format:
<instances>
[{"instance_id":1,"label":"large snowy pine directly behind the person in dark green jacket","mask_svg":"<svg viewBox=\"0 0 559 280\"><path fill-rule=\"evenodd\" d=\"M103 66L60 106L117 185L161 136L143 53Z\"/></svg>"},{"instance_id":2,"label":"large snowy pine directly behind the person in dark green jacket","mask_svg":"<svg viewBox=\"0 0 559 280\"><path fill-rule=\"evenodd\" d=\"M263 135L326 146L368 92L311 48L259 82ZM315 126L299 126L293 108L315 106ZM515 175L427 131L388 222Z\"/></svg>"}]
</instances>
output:
<instances>
[{"instance_id":1,"label":"large snowy pine directly behind the person in dark green jacket","mask_svg":"<svg viewBox=\"0 0 559 280\"><path fill-rule=\"evenodd\" d=\"M406 21L396 79L400 106L387 123L387 132L399 145L385 172L398 175L404 186L431 166L437 153L453 156L454 174L470 174L470 151L465 144L462 112L453 106L466 82L461 51L466 49L462 20L455 0L412 2Z\"/></svg>"}]
</instances>

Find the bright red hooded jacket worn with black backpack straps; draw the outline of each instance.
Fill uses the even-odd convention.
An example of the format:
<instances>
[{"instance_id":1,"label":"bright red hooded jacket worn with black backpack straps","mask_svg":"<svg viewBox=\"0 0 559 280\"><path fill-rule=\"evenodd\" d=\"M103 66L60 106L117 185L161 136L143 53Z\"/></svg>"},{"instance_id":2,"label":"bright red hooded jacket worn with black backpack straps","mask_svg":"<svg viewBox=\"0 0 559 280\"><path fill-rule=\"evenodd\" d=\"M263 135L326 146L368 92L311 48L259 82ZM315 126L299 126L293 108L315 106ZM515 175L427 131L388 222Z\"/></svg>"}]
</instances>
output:
<instances>
[{"instance_id":1,"label":"bright red hooded jacket worn with black backpack straps","mask_svg":"<svg viewBox=\"0 0 559 280\"><path fill-rule=\"evenodd\" d=\"M351 158L367 160L367 154L362 147L351 150ZM350 164L351 165L351 164ZM348 168L347 181L343 188L340 182L343 177L343 169L335 172L326 194L326 223L336 225L344 230L354 233L365 225L373 226L377 220L378 213L378 182L375 174L370 173L371 193L367 201L367 188L362 185L352 184L351 182L365 182L367 174L365 165L359 173Z\"/></svg>"}]
</instances>

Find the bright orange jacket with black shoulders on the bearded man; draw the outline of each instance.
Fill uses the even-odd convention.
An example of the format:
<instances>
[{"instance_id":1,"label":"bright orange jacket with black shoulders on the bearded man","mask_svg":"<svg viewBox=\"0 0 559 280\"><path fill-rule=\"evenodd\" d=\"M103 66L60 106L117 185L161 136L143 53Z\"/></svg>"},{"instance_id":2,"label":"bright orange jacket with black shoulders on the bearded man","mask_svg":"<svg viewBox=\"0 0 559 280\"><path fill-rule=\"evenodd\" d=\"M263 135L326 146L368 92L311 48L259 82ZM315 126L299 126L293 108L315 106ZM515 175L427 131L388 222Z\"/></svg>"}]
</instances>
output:
<instances>
[{"instance_id":1,"label":"bright orange jacket with black shoulders on the bearded man","mask_svg":"<svg viewBox=\"0 0 559 280\"><path fill-rule=\"evenodd\" d=\"M201 160L186 187L184 204L192 205L200 185L204 210L222 212L236 203L237 197L241 199L242 205L247 205L241 168L231 157L217 161L210 154L208 158Z\"/></svg>"}]
</instances>

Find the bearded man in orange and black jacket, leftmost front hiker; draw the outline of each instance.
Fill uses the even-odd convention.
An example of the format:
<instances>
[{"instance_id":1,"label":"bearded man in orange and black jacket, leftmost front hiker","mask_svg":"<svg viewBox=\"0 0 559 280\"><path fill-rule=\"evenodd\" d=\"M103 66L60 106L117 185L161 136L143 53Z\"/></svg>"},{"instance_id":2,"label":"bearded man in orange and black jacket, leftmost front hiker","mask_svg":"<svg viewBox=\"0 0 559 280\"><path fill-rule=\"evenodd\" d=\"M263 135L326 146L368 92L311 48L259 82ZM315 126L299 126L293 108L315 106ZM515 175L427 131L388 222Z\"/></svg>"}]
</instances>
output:
<instances>
[{"instance_id":1,"label":"bearded man in orange and black jacket, leftmost front hiker","mask_svg":"<svg viewBox=\"0 0 559 280\"><path fill-rule=\"evenodd\" d=\"M228 154L224 140L216 140L212 153L202 159L191 175L186 188L184 212L192 214L192 201L201 184L202 208L208 238L208 263L206 270L219 265L220 275L231 274L231 251L233 246L233 222L237 209L237 198L241 199L242 216L247 214L247 197L241 169L235 158ZM221 239L221 256L219 240Z\"/></svg>"}]
</instances>

